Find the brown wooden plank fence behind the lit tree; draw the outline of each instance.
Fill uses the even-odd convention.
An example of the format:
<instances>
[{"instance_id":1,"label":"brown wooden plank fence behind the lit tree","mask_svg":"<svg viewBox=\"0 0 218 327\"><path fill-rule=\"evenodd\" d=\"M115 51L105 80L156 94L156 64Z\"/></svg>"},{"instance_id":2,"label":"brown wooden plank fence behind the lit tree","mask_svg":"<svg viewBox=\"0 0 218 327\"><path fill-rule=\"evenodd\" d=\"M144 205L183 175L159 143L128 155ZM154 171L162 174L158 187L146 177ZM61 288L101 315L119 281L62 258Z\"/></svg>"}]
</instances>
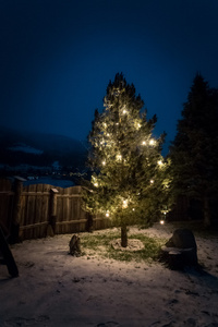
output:
<instances>
[{"instance_id":1,"label":"brown wooden plank fence behind the lit tree","mask_svg":"<svg viewBox=\"0 0 218 327\"><path fill-rule=\"evenodd\" d=\"M0 222L10 232L19 227L22 240L87 231L90 226L93 229L109 227L109 219L90 217L82 208L81 193L82 186L23 186L19 178L13 183L0 180Z\"/></svg>"}]
</instances>

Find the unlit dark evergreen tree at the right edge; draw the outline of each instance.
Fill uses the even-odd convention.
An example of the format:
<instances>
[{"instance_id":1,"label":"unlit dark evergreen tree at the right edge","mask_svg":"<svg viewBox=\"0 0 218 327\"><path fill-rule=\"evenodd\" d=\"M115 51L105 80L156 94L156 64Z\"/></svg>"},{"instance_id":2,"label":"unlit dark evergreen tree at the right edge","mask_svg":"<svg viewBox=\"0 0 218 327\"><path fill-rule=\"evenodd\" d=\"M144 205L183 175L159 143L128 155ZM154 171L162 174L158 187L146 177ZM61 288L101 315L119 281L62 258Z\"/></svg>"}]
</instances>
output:
<instances>
[{"instance_id":1,"label":"unlit dark evergreen tree at the right edge","mask_svg":"<svg viewBox=\"0 0 218 327\"><path fill-rule=\"evenodd\" d=\"M196 74L170 148L173 196L185 194L203 204L210 225L209 203L218 193L218 93Z\"/></svg>"}]
</instances>

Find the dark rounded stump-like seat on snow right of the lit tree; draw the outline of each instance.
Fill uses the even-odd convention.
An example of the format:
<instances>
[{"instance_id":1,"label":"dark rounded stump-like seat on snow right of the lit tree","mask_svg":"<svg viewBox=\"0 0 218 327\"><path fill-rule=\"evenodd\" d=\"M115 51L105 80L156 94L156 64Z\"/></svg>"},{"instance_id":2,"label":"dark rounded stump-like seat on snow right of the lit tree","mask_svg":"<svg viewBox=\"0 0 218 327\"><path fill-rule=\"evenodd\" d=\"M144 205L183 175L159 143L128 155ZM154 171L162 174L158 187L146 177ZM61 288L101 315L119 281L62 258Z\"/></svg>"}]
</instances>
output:
<instances>
[{"instance_id":1,"label":"dark rounded stump-like seat on snow right of the lit tree","mask_svg":"<svg viewBox=\"0 0 218 327\"><path fill-rule=\"evenodd\" d=\"M161 247L160 261L173 270L198 267L197 246L193 232L189 229L177 229Z\"/></svg>"}]
</instances>

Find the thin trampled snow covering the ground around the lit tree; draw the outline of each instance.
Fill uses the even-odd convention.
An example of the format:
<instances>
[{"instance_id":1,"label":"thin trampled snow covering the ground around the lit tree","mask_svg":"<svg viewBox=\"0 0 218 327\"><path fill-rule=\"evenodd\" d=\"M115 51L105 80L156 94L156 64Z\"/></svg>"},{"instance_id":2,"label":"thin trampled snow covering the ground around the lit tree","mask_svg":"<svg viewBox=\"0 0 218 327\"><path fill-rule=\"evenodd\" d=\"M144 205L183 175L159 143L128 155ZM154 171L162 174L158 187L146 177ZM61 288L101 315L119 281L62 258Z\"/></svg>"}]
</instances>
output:
<instances>
[{"instance_id":1,"label":"thin trampled snow covering the ground around the lit tree","mask_svg":"<svg viewBox=\"0 0 218 327\"><path fill-rule=\"evenodd\" d=\"M172 231L170 225L134 229L161 239ZM73 257L71 237L11 246L20 277L9 278L0 266L0 326L218 326L218 237L195 237L204 274L106 259L97 252Z\"/></svg>"}]
</instances>

